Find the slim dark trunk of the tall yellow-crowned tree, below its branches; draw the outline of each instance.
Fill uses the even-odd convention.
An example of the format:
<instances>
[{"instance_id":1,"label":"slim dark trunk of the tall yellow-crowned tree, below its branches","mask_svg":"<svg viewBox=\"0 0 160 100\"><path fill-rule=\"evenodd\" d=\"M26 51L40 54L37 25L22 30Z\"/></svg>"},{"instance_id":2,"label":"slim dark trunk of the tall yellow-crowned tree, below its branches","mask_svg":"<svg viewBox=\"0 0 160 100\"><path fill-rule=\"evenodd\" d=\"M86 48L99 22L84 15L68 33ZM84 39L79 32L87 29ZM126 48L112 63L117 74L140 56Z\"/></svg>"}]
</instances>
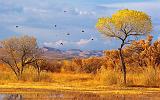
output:
<instances>
[{"instance_id":1,"label":"slim dark trunk of the tall yellow-crowned tree, below its branches","mask_svg":"<svg viewBox=\"0 0 160 100\"><path fill-rule=\"evenodd\" d=\"M123 72L123 82L126 85L126 65L125 65L125 61L124 61L124 57L122 54L122 48L119 49L119 56L120 56L120 61L121 61L121 65L122 65L122 72Z\"/></svg>"}]
</instances>

